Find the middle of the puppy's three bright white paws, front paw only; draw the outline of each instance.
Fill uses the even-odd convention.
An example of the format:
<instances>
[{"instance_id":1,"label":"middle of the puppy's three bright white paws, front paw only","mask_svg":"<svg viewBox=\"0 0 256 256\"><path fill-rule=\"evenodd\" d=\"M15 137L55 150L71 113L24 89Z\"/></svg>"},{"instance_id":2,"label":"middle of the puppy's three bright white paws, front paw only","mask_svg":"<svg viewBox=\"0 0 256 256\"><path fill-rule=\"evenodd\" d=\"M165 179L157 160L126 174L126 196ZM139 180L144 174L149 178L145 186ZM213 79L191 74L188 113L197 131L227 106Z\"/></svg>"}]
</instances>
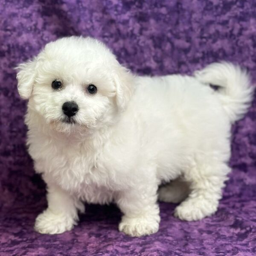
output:
<instances>
[{"instance_id":1,"label":"middle of the puppy's three bright white paws, front paw only","mask_svg":"<svg viewBox=\"0 0 256 256\"><path fill-rule=\"evenodd\" d=\"M119 223L119 231L128 236L147 236L158 231L159 222L159 216L155 218L148 216L128 218L123 216L122 221Z\"/></svg>"}]
</instances>

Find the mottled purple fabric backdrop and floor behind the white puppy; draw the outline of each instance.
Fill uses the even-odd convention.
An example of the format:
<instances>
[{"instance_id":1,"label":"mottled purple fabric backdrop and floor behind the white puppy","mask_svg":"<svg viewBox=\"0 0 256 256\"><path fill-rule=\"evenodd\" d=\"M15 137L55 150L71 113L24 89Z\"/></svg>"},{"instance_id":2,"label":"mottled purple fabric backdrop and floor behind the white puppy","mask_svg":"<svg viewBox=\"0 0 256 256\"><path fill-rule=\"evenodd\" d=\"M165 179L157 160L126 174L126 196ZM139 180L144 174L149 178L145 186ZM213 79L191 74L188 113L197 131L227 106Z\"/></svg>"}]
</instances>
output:
<instances>
[{"instance_id":1,"label":"mottled purple fabric backdrop and floor behind the white puppy","mask_svg":"<svg viewBox=\"0 0 256 256\"><path fill-rule=\"evenodd\" d=\"M40 235L33 224L45 186L26 151L13 70L49 41L90 35L140 74L190 74L228 60L256 81L255 17L255 0L0 0L0 255L256 255L256 101L233 127L233 172L212 217L183 222L161 203L159 232L131 238L117 230L118 209L90 205L74 230Z\"/></svg>"}]
</instances>

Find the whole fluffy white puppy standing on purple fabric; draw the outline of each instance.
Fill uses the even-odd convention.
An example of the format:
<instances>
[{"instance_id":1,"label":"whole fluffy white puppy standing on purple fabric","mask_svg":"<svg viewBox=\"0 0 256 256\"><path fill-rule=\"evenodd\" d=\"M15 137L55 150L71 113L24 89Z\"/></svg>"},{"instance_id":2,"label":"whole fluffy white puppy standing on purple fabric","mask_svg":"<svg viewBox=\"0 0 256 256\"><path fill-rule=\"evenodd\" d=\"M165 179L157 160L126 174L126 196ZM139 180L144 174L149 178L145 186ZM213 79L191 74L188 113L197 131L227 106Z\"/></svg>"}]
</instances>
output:
<instances>
[{"instance_id":1,"label":"whole fluffy white puppy standing on purple fabric","mask_svg":"<svg viewBox=\"0 0 256 256\"><path fill-rule=\"evenodd\" d=\"M253 95L239 67L134 76L101 42L69 37L18 68L18 91L29 99L29 154L48 192L35 230L71 230L86 201L115 202L124 214L119 230L130 236L155 233L158 186L178 177L159 190L163 201L185 199L175 216L195 221L217 210L230 172L231 124Z\"/></svg>"}]
</instances>

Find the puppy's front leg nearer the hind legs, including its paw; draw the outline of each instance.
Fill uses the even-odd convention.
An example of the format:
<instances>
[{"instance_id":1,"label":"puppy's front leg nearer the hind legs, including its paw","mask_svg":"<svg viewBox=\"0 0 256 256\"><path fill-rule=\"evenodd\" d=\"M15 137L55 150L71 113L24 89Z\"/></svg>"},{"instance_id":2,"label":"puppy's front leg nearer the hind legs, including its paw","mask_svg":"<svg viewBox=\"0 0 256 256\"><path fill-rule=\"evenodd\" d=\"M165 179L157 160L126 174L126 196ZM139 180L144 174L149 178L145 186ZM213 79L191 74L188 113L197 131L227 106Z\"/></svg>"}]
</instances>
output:
<instances>
[{"instance_id":1,"label":"puppy's front leg nearer the hind legs, including its paw","mask_svg":"<svg viewBox=\"0 0 256 256\"><path fill-rule=\"evenodd\" d=\"M124 213L119 231L129 236L146 236L159 229L157 186L140 184L137 188L120 192L117 205Z\"/></svg>"}]
</instances>

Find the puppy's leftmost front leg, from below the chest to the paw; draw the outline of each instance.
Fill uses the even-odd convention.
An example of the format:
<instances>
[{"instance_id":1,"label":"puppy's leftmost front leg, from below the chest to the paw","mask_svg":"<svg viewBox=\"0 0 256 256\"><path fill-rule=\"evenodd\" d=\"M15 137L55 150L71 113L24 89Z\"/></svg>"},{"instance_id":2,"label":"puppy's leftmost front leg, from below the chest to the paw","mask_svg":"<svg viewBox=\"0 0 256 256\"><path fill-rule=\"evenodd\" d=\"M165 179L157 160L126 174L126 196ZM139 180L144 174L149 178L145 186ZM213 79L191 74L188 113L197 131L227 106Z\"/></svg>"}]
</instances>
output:
<instances>
[{"instance_id":1,"label":"puppy's leftmost front leg, from below the chest to the paw","mask_svg":"<svg viewBox=\"0 0 256 256\"><path fill-rule=\"evenodd\" d=\"M48 184L48 208L35 220L35 230L41 234L60 234L71 230L78 221L77 209L84 205L60 187Z\"/></svg>"}]
</instances>

